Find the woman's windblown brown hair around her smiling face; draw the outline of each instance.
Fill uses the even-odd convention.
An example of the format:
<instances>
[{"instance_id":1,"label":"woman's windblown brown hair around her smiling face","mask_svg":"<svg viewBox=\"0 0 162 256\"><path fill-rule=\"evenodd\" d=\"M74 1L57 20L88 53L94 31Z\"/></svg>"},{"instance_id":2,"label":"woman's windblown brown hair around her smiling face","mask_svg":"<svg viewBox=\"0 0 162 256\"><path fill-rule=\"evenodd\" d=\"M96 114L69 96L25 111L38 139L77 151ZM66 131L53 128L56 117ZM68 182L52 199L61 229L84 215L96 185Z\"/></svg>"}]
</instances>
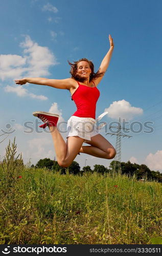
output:
<instances>
[{"instance_id":1,"label":"woman's windblown brown hair around her smiling face","mask_svg":"<svg viewBox=\"0 0 162 256\"><path fill-rule=\"evenodd\" d=\"M89 81L91 81L92 79L95 79L97 77L103 76L105 74L105 72L100 72L100 69L95 73L94 72L94 64L92 63L92 61L90 61L86 58L79 59L78 61L73 61L74 63L71 63L70 61L68 61L68 64L71 66L70 73L72 75L72 78L74 78L75 80L77 80L79 82L84 82L85 80L87 80L87 78L81 77L80 75L77 74L77 65L80 61L86 61L89 64L89 67L91 69Z\"/></svg>"}]
</instances>

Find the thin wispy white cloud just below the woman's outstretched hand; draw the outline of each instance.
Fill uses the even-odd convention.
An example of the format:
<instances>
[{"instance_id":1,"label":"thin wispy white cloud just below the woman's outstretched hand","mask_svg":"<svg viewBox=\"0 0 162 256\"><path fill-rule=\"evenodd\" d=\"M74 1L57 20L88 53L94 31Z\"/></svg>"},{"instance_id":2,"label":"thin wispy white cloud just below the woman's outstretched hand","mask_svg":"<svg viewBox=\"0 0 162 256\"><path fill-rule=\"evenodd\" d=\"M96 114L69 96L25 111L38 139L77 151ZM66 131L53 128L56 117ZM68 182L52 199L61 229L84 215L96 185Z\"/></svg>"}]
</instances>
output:
<instances>
[{"instance_id":1,"label":"thin wispy white cloud just below the woman's outstretched hand","mask_svg":"<svg viewBox=\"0 0 162 256\"><path fill-rule=\"evenodd\" d=\"M16 93L19 97L25 97L28 96L30 98L40 99L40 100L47 100L48 98L43 95L35 95L33 93L30 93L27 89L25 89L22 86L6 86L5 92L7 93Z\"/></svg>"}]
</instances>

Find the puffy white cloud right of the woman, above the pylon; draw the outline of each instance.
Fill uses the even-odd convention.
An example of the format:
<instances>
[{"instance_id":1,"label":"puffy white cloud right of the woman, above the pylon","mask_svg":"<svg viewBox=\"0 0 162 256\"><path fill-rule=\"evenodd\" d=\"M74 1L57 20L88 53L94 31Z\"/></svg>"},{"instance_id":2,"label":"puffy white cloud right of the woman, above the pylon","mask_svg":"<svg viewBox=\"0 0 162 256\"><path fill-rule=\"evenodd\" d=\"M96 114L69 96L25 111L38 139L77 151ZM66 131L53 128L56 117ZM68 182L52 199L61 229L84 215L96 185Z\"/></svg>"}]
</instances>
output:
<instances>
[{"instance_id":1,"label":"puffy white cloud right of the woman, above the pylon","mask_svg":"<svg viewBox=\"0 0 162 256\"><path fill-rule=\"evenodd\" d=\"M108 116L114 119L121 117L121 119L131 120L135 115L143 114L143 109L131 106L131 104L124 99L113 101L105 111L108 111Z\"/></svg>"}]
</instances>

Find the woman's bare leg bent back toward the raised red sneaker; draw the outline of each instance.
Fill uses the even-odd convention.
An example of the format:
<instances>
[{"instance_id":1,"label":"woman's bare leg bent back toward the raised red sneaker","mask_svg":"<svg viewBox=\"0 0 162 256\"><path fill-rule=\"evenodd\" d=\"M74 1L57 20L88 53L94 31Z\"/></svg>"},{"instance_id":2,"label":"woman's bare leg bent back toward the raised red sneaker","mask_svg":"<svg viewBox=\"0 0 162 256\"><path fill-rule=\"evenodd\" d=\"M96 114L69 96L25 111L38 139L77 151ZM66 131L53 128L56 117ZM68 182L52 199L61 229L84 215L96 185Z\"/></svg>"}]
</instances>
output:
<instances>
[{"instance_id":1,"label":"woman's bare leg bent back toward the raised red sneaker","mask_svg":"<svg viewBox=\"0 0 162 256\"><path fill-rule=\"evenodd\" d=\"M78 136L68 137L65 143L57 127L49 127L54 142L57 162L62 167L69 166L76 158L84 139Z\"/></svg>"}]
</instances>

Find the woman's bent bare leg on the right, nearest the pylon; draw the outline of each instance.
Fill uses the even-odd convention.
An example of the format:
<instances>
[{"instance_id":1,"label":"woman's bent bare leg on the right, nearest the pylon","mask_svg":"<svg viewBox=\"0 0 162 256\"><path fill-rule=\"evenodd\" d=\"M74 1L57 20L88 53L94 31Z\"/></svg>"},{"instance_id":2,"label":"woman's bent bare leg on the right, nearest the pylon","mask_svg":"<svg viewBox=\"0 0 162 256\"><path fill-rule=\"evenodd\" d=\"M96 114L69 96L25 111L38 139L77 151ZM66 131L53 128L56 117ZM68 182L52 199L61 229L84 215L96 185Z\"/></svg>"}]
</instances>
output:
<instances>
[{"instance_id":1,"label":"woman's bent bare leg on the right, nearest the pylon","mask_svg":"<svg viewBox=\"0 0 162 256\"><path fill-rule=\"evenodd\" d=\"M80 153L106 159L115 157L116 152L114 147L101 134L91 137L91 141L88 140L86 143L91 146L82 146L79 151Z\"/></svg>"}]
</instances>

